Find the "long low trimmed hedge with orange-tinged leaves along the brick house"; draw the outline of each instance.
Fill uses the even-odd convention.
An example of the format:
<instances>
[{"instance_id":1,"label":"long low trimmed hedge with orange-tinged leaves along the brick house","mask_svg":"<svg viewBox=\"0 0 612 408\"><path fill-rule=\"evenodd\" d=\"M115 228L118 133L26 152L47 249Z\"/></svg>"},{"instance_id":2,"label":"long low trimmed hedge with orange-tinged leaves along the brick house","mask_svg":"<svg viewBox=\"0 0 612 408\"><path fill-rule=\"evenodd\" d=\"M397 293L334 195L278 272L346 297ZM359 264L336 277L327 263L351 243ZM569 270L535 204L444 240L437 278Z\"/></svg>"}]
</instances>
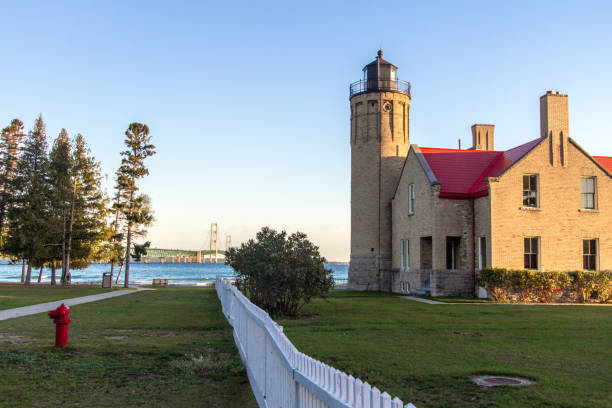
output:
<instances>
[{"instance_id":1,"label":"long low trimmed hedge with orange-tinged leaves along the brick house","mask_svg":"<svg viewBox=\"0 0 612 408\"><path fill-rule=\"evenodd\" d=\"M540 272L490 268L480 271L478 285L486 288L497 302L612 301L610 271Z\"/></svg>"}]
</instances>

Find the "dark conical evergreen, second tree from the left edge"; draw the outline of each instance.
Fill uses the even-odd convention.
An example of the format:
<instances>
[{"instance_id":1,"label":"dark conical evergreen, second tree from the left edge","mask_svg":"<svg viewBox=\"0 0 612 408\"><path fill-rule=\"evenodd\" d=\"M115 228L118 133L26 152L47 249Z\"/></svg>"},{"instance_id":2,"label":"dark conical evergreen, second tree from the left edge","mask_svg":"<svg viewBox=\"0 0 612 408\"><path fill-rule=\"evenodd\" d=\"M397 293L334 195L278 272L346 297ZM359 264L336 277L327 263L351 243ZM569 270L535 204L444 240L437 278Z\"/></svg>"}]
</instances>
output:
<instances>
[{"instance_id":1,"label":"dark conical evergreen, second tree from the left edge","mask_svg":"<svg viewBox=\"0 0 612 408\"><path fill-rule=\"evenodd\" d=\"M40 267L47 256L49 219L49 162L45 123L39 116L28 133L17 162L15 200L9 208L6 252L28 260L25 277L31 282L32 267Z\"/></svg>"}]
</instances>

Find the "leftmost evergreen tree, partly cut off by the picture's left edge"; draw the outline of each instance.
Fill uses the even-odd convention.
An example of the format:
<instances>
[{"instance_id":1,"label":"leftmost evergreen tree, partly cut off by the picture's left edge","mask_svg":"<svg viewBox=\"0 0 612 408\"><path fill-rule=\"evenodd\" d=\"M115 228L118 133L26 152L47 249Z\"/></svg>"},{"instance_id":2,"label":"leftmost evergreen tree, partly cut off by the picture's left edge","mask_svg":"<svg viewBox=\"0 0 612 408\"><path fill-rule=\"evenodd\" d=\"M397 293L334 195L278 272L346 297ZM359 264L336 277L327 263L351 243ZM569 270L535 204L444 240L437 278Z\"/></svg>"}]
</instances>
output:
<instances>
[{"instance_id":1,"label":"leftmost evergreen tree, partly cut off by the picture's left edge","mask_svg":"<svg viewBox=\"0 0 612 408\"><path fill-rule=\"evenodd\" d=\"M13 119L9 126L2 129L0 139L0 243L4 242L7 212L16 194L17 160L24 137L23 122L19 119Z\"/></svg>"}]
</instances>

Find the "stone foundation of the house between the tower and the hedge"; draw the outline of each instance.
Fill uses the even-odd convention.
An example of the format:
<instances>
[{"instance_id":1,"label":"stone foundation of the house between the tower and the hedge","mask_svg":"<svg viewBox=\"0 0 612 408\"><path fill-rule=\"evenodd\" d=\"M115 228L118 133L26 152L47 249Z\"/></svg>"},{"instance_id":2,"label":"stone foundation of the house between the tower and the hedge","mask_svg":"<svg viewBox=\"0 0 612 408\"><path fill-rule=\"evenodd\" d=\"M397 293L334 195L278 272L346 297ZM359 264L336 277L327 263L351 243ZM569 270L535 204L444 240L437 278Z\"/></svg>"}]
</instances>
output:
<instances>
[{"instance_id":1,"label":"stone foundation of the house between the tower and the hedge","mask_svg":"<svg viewBox=\"0 0 612 408\"><path fill-rule=\"evenodd\" d=\"M393 292L410 295L429 290L431 296L474 296L474 275L469 269L411 269L393 272Z\"/></svg>"}]
</instances>

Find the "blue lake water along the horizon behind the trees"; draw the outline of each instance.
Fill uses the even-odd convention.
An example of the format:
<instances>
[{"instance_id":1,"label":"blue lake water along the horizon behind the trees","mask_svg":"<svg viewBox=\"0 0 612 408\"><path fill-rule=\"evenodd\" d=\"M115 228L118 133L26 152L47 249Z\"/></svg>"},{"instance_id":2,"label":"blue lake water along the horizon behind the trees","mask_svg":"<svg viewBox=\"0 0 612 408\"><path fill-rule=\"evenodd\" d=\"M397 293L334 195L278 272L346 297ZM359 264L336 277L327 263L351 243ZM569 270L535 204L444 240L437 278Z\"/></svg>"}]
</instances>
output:
<instances>
[{"instance_id":1,"label":"blue lake water along the horizon behind the trees","mask_svg":"<svg viewBox=\"0 0 612 408\"><path fill-rule=\"evenodd\" d=\"M344 283L348 279L348 265L325 265L334 272L337 283ZM117 276L115 268L113 281ZM38 270L32 270L32 281L38 279ZM110 264L92 264L83 270L72 270L74 283L102 282L102 273L110 272ZM130 265L130 283L150 284L154 278L168 279L172 285L206 285L213 282L217 276L234 275L231 266L225 264L167 264L167 263L132 263ZM57 280L61 270L57 271ZM21 265L0 265L0 282L20 282ZM51 281L51 270L45 268L42 282ZM123 283L123 273L119 282Z\"/></svg>"}]
</instances>

